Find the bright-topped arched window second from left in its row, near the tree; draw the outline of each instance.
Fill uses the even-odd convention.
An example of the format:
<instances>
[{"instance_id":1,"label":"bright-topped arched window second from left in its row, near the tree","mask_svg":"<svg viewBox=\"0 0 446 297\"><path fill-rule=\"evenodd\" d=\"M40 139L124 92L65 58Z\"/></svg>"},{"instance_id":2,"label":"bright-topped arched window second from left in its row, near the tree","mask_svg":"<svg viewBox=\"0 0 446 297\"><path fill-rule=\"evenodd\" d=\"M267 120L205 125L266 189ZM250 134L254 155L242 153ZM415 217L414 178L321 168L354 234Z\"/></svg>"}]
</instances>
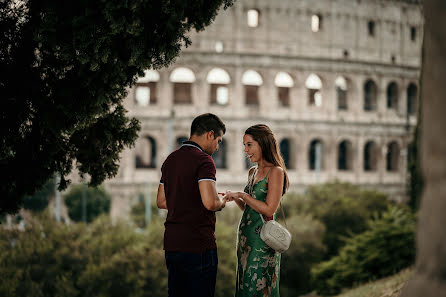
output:
<instances>
[{"instance_id":1,"label":"bright-topped arched window second from left in its row, near the tree","mask_svg":"<svg viewBox=\"0 0 446 297\"><path fill-rule=\"evenodd\" d=\"M192 83L195 82L195 74L192 70L185 67L176 68L170 74L170 82L173 83L174 103L192 103Z\"/></svg>"}]
</instances>

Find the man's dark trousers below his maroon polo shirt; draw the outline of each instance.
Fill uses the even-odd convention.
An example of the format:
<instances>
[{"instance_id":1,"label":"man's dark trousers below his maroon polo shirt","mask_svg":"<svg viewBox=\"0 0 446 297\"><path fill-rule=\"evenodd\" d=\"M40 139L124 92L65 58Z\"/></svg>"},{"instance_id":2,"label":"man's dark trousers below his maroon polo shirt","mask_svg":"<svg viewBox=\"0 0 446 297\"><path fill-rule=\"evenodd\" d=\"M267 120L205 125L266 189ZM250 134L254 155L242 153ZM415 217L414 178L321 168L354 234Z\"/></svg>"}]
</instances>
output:
<instances>
[{"instance_id":1,"label":"man's dark trousers below his maroon polo shirt","mask_svg":"<svg viewBox=\"0 0 446 297\"><path fill-rule=\"evenodd\" d=\"M165 252L169 297L213 297L217 250L203 253Z\"/></svg>"}]
</instances>

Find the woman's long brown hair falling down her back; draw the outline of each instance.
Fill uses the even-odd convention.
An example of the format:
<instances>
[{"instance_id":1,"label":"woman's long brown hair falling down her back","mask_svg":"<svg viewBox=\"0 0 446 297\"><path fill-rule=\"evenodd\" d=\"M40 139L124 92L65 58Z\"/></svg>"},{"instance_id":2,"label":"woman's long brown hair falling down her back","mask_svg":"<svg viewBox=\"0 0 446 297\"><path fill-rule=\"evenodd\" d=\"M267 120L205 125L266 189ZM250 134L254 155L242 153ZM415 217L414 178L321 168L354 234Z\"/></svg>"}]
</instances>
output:
<instances>
[{"instance_id":1,"label":"woman's long brown hair falling down her back","mask_svg":"<svg viewBox=\"0 0 446 297\"><path fill-rule=\"evenodd\" d=\"M246 129L245 134L251 135L258 142L262 149L262 157L274 166L280 166L283 169L283 190L282 195L286 193L290 183L286 172L285 162L283 161L280 148L277 144L273 132L267 125L258 124Z\"/></svg>"}]
</instances>

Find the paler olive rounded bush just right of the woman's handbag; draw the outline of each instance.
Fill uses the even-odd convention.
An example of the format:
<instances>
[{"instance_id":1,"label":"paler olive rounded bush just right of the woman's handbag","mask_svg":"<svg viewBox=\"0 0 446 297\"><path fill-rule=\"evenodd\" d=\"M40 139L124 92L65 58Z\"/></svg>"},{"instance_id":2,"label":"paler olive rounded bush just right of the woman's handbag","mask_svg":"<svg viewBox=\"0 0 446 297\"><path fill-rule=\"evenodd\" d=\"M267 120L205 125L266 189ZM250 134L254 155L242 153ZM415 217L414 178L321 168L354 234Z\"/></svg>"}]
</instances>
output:
<instances>
[{"instance_id":1,"label":"paler olive rounded bush just right of the woman's handbag","mask_svg":"<svg viewBox=\"0 0 446 297\"><path fill-rule=\"evenodd\" d=\"M285 200L291 214L310 215L324 224L324 259L336 255L346 238L366 230L367 220L390 203L386 194L340 182L310 186L305 195L289 195Z\"/></svg>"}]
</instances>

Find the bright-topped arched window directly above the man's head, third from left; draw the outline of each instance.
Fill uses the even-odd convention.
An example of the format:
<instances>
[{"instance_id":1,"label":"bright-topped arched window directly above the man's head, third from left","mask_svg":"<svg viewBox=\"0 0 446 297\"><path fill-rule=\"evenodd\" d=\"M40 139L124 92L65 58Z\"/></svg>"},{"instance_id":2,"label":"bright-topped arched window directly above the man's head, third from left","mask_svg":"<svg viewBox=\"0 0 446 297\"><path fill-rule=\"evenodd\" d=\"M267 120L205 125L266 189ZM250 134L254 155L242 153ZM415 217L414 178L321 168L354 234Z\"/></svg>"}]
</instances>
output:
<instances>
[{"instance_id":1,"label":"bright-topped arched window directly above the man's head, third from left","mask_svg":"<svg viewBox=\"0 0 446 297\"><path fill-rule=\"evenodd\" d=\"M228 72L221 68L214 68L209 71L206 80L211 87L211 104L227 105L229 102L228 84L231 82Z\"/></svg>"}]
</instances>

